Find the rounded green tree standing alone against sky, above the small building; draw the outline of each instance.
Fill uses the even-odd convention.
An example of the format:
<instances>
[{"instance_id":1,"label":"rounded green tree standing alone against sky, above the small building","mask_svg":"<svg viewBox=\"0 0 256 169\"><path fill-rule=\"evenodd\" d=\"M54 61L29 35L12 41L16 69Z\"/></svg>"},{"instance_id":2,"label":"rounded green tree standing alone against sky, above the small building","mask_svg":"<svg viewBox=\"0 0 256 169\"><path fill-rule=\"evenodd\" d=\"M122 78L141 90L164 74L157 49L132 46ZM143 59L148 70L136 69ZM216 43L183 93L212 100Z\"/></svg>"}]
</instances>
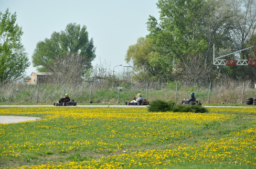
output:
<instances>
[{"instance_id":1,"label":"rounded green tree standing alone against sky, above the small building","mask_svg":"<svg viewBox=\"0 0 256 169\"><path fill-rule=\"evenodd\" d=\"M64 31L54 32L50 39L46 38L37 43L32 63L39 72L55 72L56 69L60 70L63 64L69 66L64 56L73 56L74 53L79 57L77 61L82 64L83 74L91 67L91 62L96 56L93 39L89 40L86 26L69 23Z\"/></svg>"}]
</instances>

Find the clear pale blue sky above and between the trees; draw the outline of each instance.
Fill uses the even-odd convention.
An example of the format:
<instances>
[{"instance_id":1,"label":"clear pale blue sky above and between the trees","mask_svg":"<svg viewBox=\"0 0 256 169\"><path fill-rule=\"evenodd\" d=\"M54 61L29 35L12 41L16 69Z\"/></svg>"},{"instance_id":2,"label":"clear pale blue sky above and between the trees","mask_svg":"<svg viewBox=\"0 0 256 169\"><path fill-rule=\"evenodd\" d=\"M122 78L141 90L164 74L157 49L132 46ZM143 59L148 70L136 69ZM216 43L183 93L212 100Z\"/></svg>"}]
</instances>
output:
<instances>
[{"instance_id":1,"label":"clear pale blue sky above and between the trees","mask_svg":"<svg viewBox=\"0 0 256 169\"><path fill-rule=\"evenodd\" d=\"M93 38L96 58L92 65L107 64L112 70L122 64L130 45L145 37L149 15L159 18L157 0L0 0L0 11L16 11L18 26L24 32L22 43L29 62L39 41L65 30L68 23L85 25ZM115 71L122 71L122 66ZM26 75L36 71L30 65Z\"/></svg>"}]
</instances>

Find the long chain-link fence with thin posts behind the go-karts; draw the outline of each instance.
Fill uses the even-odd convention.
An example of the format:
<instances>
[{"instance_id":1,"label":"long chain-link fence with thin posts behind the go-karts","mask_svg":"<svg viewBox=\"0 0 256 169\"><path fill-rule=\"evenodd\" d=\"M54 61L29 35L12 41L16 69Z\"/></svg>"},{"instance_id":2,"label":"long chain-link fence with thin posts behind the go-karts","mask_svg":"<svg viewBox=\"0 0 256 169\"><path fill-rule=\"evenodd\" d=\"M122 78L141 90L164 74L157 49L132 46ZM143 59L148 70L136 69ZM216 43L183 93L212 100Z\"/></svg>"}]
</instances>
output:
<instances>
[{"instance_id":1,"label":"long chain-link fence with thin posts behind the go-karts","mask_svg":"<svg viewBox=\"0 0 256 169\"><path fill-rule=\"evenodd\" d=\"M207 103L246 103L247 98L256 98L254 83L79 83L76 85L28 85L8 83L0 85L1 104L52 104L65 93L79 103L125 103L137 93L153 100L173 100L180 102L194 92L196 99Z\"/></svg>"}]
</instances>

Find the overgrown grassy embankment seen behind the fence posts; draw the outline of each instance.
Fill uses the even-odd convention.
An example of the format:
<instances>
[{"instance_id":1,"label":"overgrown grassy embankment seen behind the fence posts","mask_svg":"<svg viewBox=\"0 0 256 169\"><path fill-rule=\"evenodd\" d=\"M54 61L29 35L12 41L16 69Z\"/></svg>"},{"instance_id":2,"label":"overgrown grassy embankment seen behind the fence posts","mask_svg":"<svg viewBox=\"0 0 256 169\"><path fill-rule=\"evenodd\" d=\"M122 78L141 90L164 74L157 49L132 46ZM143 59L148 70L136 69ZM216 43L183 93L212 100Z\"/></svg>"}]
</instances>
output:
<instances>
[{"instance_id":1,"label":"overgrown grassy embankment seen behind the fence posts","mask_svg":"<svg viewBox=\"0 0 256 169\"><path fill-rule=\"evenodd\" d=\"M103 88L103 87L102 87ZM93 104L117 104L118 103L118 88L105 87L106 89L92 88L90 86L82 85L67 85L64 93L69 93L71 99L74 99L78 104L88 104L89 100ZM14 90L13 90L14 89ZM38 90L38 93L37 93ZM190 93L196 94L196 99L201 101L202 104L208 103L209 88L207 87L183 87L179 86L177 90L176 99L176 86L165 86L161 90L156 90L153 87L148 87L146 93L146 87L138 88L122 88L119 95L119 103L124 104L126 101L132 100L137 93L141 93L143 98L149 101L153 100L173 100L178 103L184 98L189 98ZM91 94L91 95L90 95ZM12 98L12 104L53 104L57 102L63 95L63 86L57 85L5 85L0 88L0 104L10 104ZM12 97L13 95L13 97ZM209 96L210 104L246 104L247 98L256 98L256 89L244 88L244 95L242 99L241 86L212 86ZM37 103L36 103L37 101Z\"/></svg>"}]
</instances>

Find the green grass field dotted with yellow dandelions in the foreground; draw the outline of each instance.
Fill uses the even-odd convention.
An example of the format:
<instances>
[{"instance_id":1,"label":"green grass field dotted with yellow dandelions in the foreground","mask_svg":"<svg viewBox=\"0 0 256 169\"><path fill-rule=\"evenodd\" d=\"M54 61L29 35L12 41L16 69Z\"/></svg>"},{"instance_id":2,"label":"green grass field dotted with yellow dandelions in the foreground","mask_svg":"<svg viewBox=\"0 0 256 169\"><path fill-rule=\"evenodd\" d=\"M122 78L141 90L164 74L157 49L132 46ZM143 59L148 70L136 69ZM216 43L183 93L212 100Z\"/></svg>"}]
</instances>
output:
<instances>
[{"instance_id":1,"label":"green grass field dotted with yellow dandelions in the foreground","mask_svg":"<svg viewBox=\"0 0 256 169\"><path fill-rule=\"evenodd\" d=\"M0 107L0 168L255 168L256 107Z\"/></svg>"}]
</instances>

